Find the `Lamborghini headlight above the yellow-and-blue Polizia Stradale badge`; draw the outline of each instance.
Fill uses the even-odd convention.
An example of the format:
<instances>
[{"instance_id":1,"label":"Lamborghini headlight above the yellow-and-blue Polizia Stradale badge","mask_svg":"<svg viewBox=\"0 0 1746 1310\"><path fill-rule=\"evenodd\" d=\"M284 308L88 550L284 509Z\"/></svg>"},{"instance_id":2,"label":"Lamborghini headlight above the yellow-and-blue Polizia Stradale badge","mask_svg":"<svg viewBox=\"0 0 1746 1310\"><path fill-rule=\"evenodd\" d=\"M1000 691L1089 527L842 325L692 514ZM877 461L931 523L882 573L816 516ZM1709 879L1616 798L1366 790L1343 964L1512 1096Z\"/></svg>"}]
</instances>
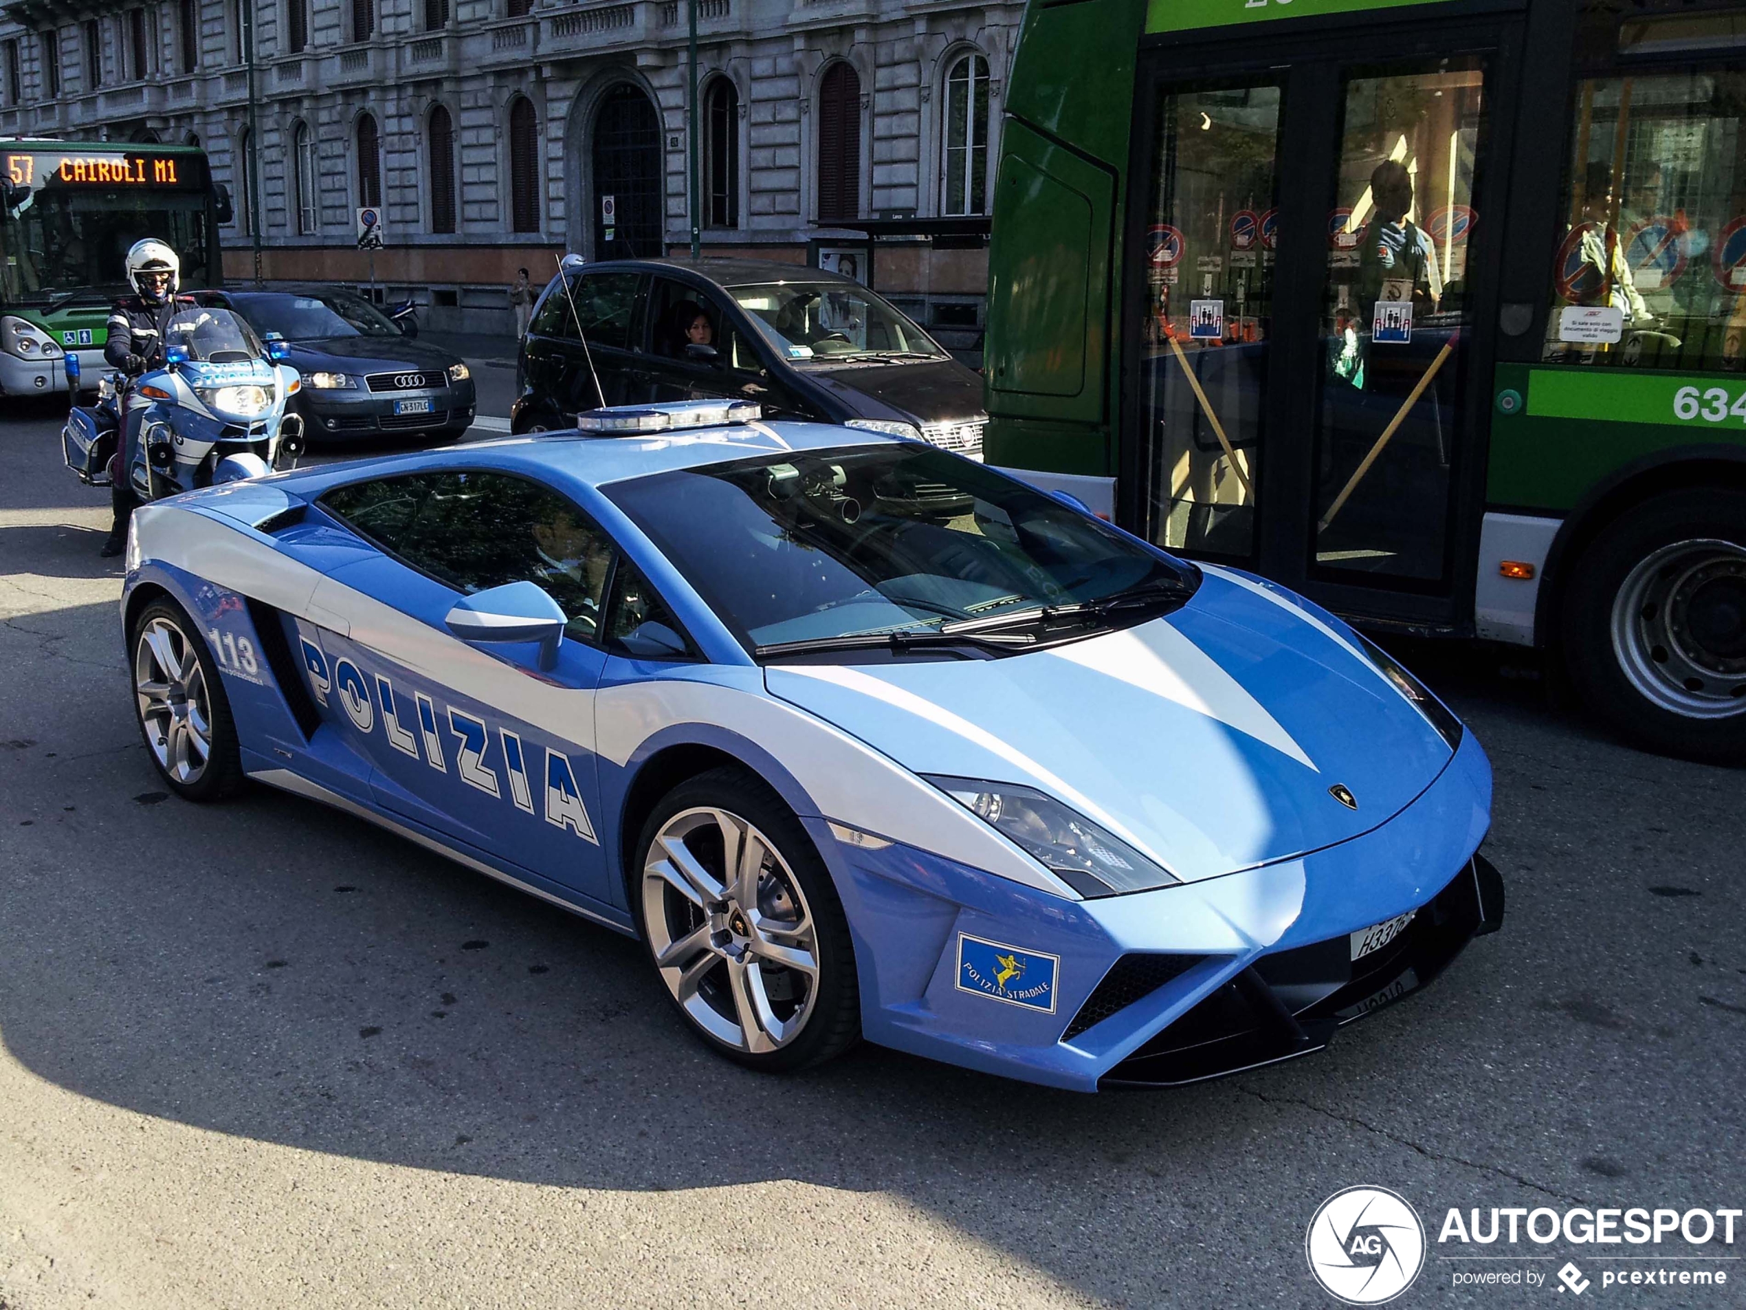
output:
<instances>
[{"instance_id":1,"label":"Lamborghini headlight above the yellow-and-blue Polizia Stradale badge","mask_svg":"<svg viewBox=\"0 0 1746 1310\"><path fill-rule=\"evenodd\" d=\"M976 777L922 777L1009 837L1081 896L1116 896L1182 882L1102 824L1034 788Z\"/></svg>"}]
</instances>

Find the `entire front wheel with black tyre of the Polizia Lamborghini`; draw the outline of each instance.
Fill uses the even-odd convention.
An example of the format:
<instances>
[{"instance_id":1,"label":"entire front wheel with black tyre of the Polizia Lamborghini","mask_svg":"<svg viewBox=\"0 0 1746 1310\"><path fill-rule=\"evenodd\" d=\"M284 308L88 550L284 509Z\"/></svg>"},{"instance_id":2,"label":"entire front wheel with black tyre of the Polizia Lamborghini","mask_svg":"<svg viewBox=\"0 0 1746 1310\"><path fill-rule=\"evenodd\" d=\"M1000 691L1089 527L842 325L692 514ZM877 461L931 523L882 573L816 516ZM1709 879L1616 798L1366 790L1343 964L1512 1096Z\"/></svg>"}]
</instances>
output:
<instances>
[{"instance_id":1,"label":"entire front wheel with black tyre of the Polizia Lamborghini","mask_svg":"<svg viewBox=\"0 0 1746 1310\"><path fill-rule=\"evenodd\" d=\"M751 774L712 769L655 807L630 903L667 997L718 1053L786 1072L859 1038L836 887L794 814Z\"/></svg>"}]
</instances>

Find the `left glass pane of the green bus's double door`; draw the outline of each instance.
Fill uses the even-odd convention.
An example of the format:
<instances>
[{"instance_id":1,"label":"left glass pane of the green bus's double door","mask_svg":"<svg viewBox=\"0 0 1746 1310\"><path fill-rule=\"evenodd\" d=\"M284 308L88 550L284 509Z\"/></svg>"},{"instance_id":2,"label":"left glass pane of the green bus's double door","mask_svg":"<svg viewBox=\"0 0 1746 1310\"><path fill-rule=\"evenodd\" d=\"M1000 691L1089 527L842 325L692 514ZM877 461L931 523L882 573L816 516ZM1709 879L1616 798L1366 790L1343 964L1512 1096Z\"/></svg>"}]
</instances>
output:
<instances>
[{"instance_id":1,"label":"left glass pane of the green bus's double door","mask_svg":"<svg viewBox=\"0 0 1746 1310\"><path fill-rule=\"evenodd\" d=\"M1255 550L1278 134L1278 86L1158 100L1138 421L1147 522L1170 550Z\"/></svg>"}]
</instances>

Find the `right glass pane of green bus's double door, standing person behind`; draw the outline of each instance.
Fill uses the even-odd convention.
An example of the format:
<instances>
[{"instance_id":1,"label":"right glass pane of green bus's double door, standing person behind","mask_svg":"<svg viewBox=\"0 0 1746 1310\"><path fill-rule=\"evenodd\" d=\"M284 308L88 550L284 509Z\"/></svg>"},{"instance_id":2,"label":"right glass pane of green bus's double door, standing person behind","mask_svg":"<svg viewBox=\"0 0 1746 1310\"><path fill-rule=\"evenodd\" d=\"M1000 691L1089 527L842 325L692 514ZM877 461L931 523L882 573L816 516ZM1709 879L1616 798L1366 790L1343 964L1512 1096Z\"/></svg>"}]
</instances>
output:
<instances>
[{"instance_id":1,"label":"right glass pane of green bus's double door, standing person behind","mask_svg":"<svg viewBox=\"0 0 1746 1310\"><path fill-rule=\"evenodd\" d=\"M1348 70L1322 302L1315 562L1433 582L1461 431L1477 58Z\"/></svg>"}]
</instances>

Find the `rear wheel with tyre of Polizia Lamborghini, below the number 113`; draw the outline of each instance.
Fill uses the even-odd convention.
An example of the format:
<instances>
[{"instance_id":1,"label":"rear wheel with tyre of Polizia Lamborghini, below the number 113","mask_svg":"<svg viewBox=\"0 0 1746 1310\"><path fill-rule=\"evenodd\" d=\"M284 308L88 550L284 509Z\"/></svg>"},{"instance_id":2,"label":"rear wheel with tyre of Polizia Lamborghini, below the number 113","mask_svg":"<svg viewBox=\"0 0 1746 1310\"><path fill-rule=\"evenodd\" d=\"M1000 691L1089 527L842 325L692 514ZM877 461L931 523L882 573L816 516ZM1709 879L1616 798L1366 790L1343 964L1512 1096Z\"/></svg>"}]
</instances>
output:
<instances>
[{"instance_id":1,"label":"rear wheel with tyre of Polizia Lamborghini, below the number 113","mask_svg":"<svg viewBox=\"0 0 1746 1310\"><path fill-rule=\"evenodd\" d=\"M134 618L133 704L164 784L183 800L220 800L243 784L236 723L218 665L187 611L169 599Z\"/></svg>"}]
</instances>

